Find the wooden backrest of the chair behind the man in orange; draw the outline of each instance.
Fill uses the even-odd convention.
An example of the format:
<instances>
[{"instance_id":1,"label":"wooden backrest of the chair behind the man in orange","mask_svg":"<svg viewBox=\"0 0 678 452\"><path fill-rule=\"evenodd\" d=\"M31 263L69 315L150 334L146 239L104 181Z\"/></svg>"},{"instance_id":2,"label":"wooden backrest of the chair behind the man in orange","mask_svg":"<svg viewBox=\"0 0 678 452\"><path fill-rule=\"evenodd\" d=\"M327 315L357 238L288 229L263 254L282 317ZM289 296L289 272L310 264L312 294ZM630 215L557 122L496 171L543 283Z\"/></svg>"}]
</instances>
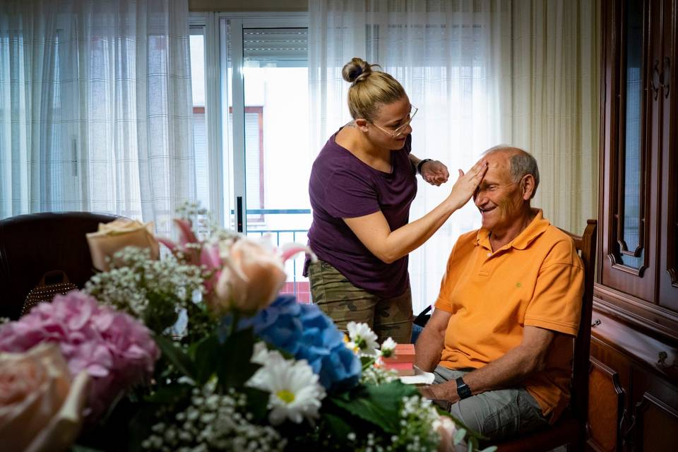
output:
<instances>
[{"instance_id":1,"label":"wooden backrest of the chair behind the man in orange","mask_svg":"<svg viewBox=\"0 0 678 452\"><path fill-rule=\"evenodd\" d=\"M563 231L574 240L584 264L584 295L581 304L581 321L574 341L572 364L571 408L578 420L585 422L588 415L588 372L590 368L591 311L593 310L593 280L595 277L595 243L597 220L588 220L580 235Z\"/></svg>"}]
</instances>

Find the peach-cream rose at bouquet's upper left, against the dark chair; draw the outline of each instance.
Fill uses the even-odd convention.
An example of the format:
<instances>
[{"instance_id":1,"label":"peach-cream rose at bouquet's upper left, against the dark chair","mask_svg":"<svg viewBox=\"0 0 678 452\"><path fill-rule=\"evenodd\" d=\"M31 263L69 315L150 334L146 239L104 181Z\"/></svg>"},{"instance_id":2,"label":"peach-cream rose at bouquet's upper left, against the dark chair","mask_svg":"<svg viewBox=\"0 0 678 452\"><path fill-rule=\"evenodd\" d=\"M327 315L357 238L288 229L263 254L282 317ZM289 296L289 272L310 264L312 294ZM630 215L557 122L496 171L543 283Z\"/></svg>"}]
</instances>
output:
<instances>
[{"instance_id":1,"label":"peach-cream rose at bouquet's upper left, against the dark chair","mask_svg":"<svg viewBox=\"0 0 678 452\"><path fill-rule=\"evenodd\" d=\"M153 235L153 223L142 223L127 218L119 218L109 223L99 223L97 232L87 234L94 267L108 271L107 257L113 257L116 251L125 246L150 249L150 258L160 257L160 245Z\"/></svg>"}]
</instances>

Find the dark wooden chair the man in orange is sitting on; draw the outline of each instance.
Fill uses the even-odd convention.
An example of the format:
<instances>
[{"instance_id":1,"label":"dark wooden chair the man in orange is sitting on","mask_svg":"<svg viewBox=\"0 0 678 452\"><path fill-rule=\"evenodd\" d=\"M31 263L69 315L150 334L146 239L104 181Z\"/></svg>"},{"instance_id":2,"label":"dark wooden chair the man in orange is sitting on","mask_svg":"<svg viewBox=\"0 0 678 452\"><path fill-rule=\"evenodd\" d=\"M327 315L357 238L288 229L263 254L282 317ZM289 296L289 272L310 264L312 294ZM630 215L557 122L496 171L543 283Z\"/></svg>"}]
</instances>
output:
<instances>
[{"instance_id":1,"label":"dark wooden chair the man in orange is sitting on","mask_svg":"<svg viewBox=\"0 0 678 452\"><path fill-rule=\"evenodd\" d=\"M584 263L585 273L581 322L574 341L569 409L565 410L559 420L547 429L507 439L501 444L495 444L498 452L546 452L563 445L567 445L569 451L584 450L588 422L588 373L597 220L588 220L587 223L584 234L581 236L563 231L574 239L574 244Z\"/></svg>"}]
</instances>

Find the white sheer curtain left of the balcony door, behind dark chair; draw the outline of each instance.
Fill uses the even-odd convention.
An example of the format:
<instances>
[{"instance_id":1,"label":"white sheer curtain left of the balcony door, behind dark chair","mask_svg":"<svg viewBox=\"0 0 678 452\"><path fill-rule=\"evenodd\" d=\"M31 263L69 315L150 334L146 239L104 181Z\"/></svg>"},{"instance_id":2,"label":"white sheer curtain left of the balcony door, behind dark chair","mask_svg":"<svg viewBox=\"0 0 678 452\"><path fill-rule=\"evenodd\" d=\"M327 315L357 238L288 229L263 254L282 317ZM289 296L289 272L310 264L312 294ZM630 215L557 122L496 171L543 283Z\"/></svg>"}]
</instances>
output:
<instances>
[{"instance_id":1,"label":"white sheer curtain left of the balcony door, behind dark chair","mask_svg":"<svg viewBox=\"0 0 678 452\"><path fill-rule=\"evenodd\" d=\"M0 5L0 218L153 220L195 197L188 2Z\"/></svg>"}]
</instances>

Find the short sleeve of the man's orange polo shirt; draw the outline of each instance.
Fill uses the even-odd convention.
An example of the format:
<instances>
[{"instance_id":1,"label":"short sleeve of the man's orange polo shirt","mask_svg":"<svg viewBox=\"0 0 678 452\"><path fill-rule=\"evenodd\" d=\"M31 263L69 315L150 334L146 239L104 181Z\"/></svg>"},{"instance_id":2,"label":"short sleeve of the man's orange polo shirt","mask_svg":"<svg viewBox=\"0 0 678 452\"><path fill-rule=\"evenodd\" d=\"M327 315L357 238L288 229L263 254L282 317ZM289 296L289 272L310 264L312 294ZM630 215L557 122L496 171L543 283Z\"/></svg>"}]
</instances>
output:
<instances>
[{"instance_id":1,"label":"short sleeve of the man's orange polo shirt","mask_svg":"<svg viewBox=\"0 0 678 452\"><path fill-rule=\"evenodd\" d=\"M584 270L574 244L558 242L540 268L525 326L576 335L583 291Z\"/></svg>"}]
</instances>

